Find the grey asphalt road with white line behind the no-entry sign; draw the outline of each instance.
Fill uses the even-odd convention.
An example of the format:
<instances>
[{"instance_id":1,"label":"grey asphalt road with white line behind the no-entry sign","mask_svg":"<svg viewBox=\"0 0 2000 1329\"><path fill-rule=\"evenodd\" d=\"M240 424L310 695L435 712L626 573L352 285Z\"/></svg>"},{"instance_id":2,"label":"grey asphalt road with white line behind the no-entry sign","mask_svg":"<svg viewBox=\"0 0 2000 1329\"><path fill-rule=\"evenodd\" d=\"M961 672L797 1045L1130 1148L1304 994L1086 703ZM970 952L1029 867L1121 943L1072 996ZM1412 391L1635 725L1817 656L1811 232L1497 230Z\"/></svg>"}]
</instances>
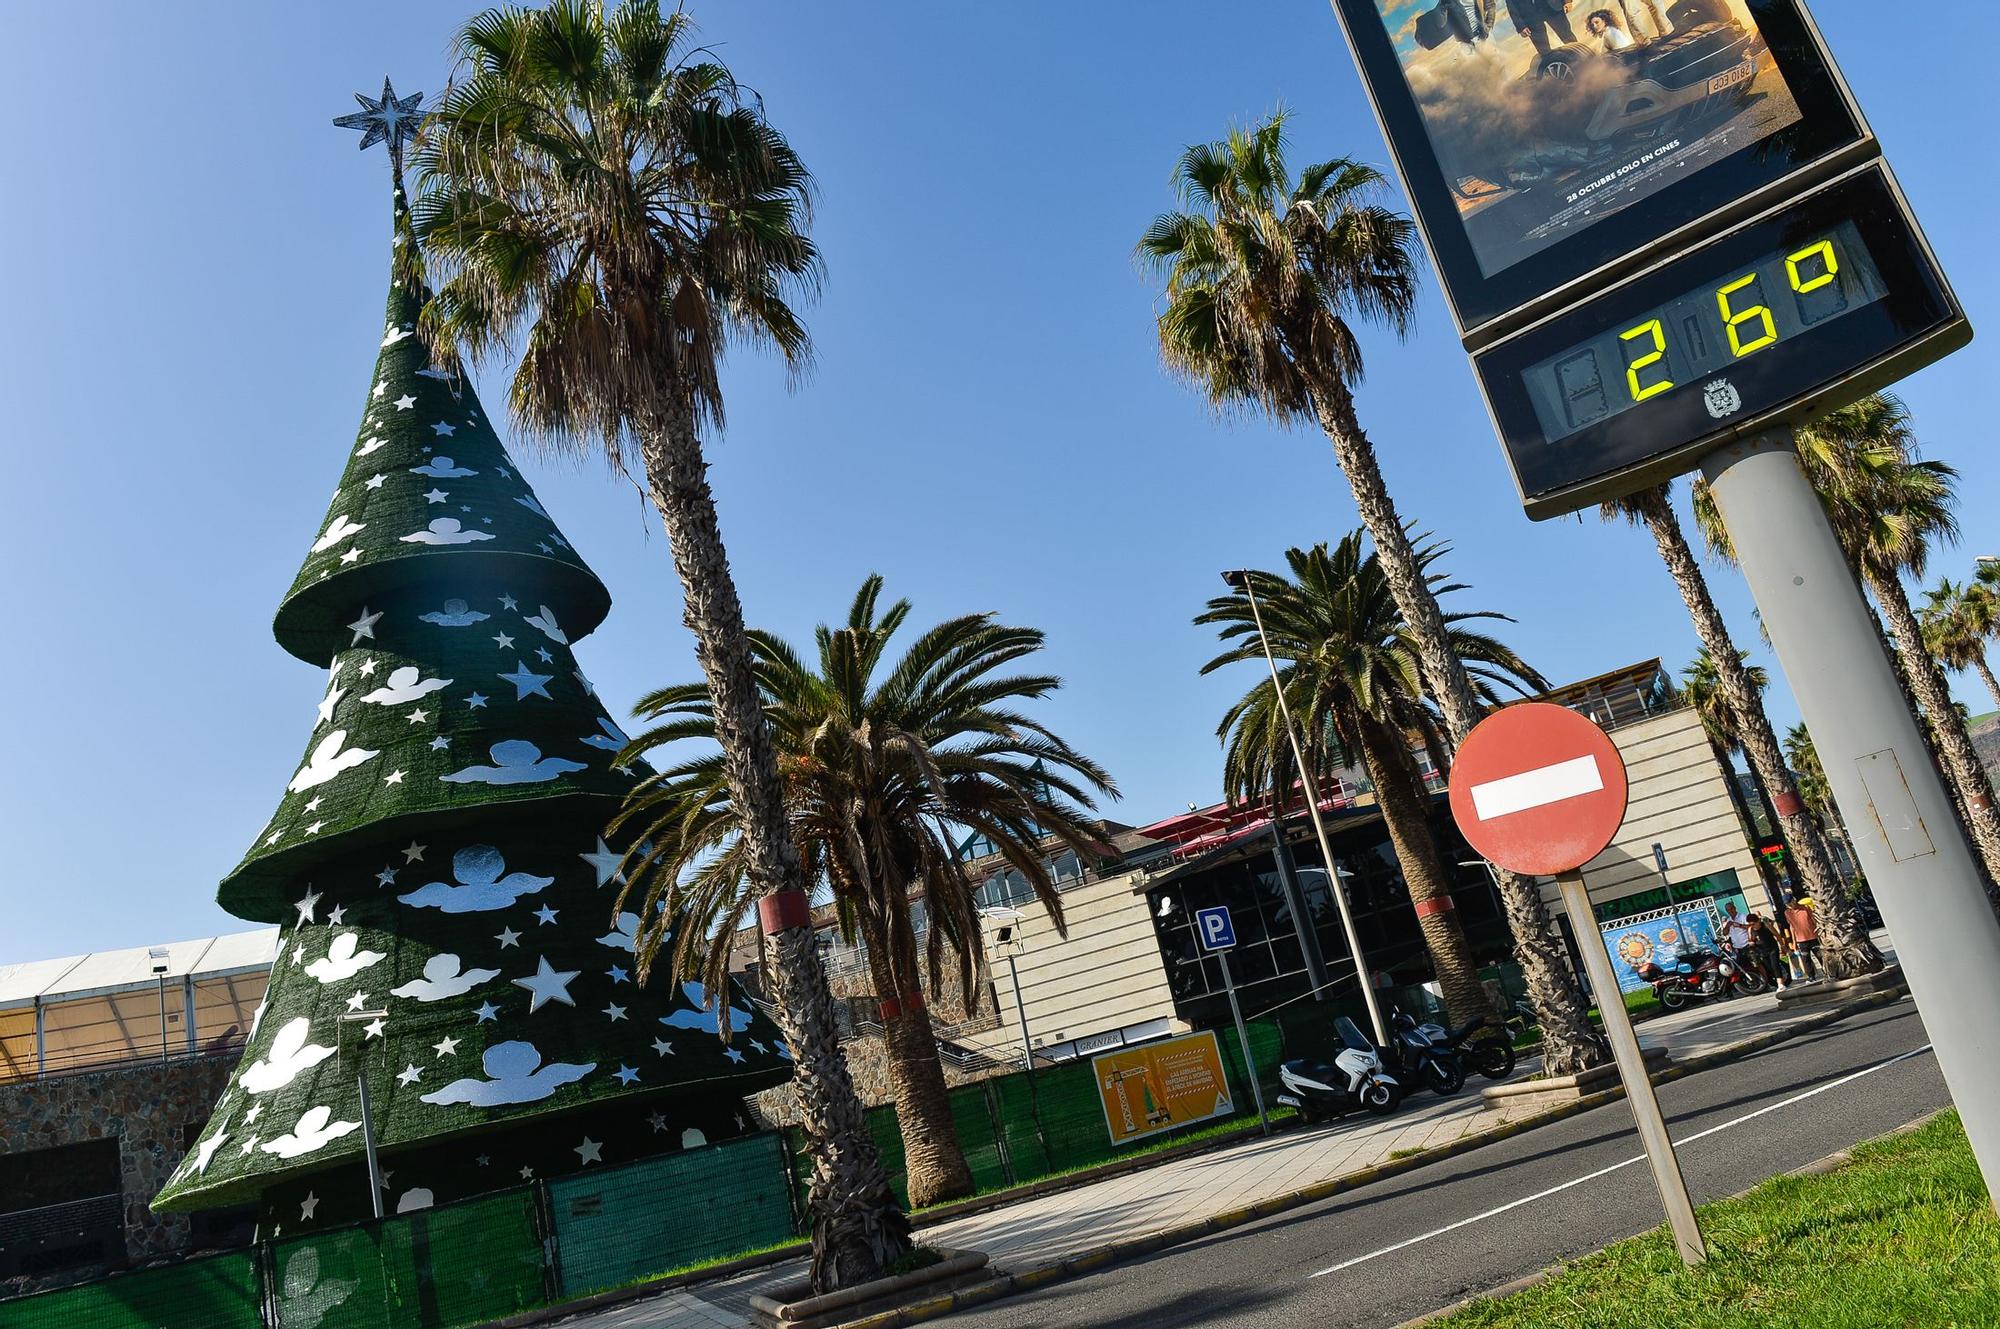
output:
<instances>
[{"instance_id":1,"label":"grey asphalt road with white line behind the no-entry sign","mask_svg":"<svg viewBox=\"0 0 2000 1329\"><path fill-rule=\"evenodd\" d=\"M1802 1097L1806 1095L1806 1097ZM1910 1001L1660 1087L1696 1203L1948 1105ZM962 1329L1386 1329L1656 1227L1626 1105L1306 1209L960 1311Z\"/></svg>"}]
</instances>

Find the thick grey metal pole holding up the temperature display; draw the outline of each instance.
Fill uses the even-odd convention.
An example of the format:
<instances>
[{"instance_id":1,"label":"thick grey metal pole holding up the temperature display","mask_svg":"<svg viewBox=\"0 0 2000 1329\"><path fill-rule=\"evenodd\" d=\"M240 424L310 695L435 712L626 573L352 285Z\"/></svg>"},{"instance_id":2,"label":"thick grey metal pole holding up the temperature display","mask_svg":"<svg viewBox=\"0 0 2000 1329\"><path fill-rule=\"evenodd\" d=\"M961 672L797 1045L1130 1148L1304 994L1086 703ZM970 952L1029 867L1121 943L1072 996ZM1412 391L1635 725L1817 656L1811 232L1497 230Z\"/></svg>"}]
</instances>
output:
<instances>
[{"instance_id":1,"label":"thick grey metal pole holding up the temperature display","mask_svg":"<svg viewBox=\"0 0 2000 1329\"><path fill-rule=\"evenodd\" d=\"M1788 432L1702 460L1910 995L2000 1195L2000 923ZM1944 717L1946 723L1956 723Z\"/></svg>"}]
</instances>

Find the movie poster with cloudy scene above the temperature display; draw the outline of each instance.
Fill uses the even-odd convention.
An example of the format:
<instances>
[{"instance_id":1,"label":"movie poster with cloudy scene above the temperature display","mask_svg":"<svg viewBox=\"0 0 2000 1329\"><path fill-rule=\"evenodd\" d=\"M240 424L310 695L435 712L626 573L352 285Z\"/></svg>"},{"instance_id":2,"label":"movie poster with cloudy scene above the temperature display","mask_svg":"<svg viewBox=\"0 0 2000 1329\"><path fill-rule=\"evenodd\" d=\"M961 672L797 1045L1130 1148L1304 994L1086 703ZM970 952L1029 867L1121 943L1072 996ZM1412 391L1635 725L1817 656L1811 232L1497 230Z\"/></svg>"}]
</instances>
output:
<instances>
[{"instance_id":1,"label":"movie poster with cloudy scene above the temperature display","mask_svg":"<svg viewBox=\"0 0 2000 1329\"><path fill-rule=\"evenodd\" d=\"M1372 2L1484 276L1802 116L1748 0Z\"/></svg>"}]
</instances>

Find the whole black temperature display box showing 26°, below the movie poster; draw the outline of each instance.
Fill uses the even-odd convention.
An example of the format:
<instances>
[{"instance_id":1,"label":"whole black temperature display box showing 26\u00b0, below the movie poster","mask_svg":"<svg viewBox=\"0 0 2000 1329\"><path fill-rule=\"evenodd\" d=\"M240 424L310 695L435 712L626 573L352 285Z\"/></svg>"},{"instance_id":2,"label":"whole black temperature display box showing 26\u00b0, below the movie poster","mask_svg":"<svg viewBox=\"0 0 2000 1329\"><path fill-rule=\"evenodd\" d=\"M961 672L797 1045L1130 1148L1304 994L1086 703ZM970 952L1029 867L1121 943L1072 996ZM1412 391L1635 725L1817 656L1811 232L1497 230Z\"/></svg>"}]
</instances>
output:
<instances>
[{"instance_id":1,"label":"whole black temperature display box showing 26\u00b0, below the movie poster","mask_svg":"<svg viewBox=\"0 0 2000 1329\"><path fill-rule=\"evenodd\" d=\"M1690 470L1972 340L1880 162L1472 352L1528 516Z\"/></svg>"}]
</instances>

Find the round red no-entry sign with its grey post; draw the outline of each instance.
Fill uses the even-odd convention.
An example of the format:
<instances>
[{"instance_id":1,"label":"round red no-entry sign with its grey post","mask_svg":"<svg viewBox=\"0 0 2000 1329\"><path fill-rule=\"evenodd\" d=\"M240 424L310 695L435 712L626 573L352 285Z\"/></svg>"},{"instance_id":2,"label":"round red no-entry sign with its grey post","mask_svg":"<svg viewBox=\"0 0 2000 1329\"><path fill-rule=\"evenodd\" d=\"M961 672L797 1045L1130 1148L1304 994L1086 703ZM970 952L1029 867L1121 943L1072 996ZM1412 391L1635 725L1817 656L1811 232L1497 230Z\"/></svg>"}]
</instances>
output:
<instances>
[{"instance_id":1,"label":"round red no-entry sign with its grey post","mask_svg":"<svg viewBox=\"0 0 2000 1329\"><path fill-rule=\"evenodd\" d=\"M1592 721L1548 703L1498 711L1466 735L1452 763L1452 817L1480 855L1526 877L1554 877L1584 955L1604 1033L1624 1081L1660 1205L1682 1263L1708 1259L1688 1181L1646 1075L1632 1017L1598 933L1582 867L1604 853L1626 813L1626 769L1618 747Z\"/></svg>"}]
</instances>

